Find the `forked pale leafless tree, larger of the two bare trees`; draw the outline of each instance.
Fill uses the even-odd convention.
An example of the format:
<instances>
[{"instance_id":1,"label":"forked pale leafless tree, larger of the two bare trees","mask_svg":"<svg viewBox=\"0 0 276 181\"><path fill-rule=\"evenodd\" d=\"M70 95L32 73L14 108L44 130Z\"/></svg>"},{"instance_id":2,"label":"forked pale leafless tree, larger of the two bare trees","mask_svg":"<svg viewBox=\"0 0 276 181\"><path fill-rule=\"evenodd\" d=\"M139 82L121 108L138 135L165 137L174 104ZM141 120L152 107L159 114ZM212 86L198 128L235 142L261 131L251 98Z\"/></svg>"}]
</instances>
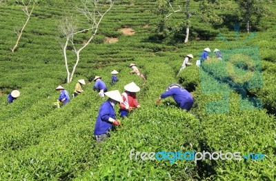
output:
<instances>
[{"instance_id":1,"label":"forked pale leafless tree, larger of the two bare trees","mask_svg":"<svg viewBox=\"0 0 276 181\"><path fill-rule=\"evenodd\" d=\"M81 50L86 48L90 41L95 37L97 34L97 30L101 20L106 15L106 13L112 8L116 0L86 0L82 1L81 8L77 8L82 15L84 15L88 19L88 27L82 30L77 31L77 21L72 18L66 18L63 22L59 25L59 31L62 33L63 37L66 38L65 44L62 44L61 47L63 49L63 56L65 59L66 71L67 71L67 82L71 82L77 65L79 64L79 53ZM74 42L75 35L79 33L86 33L91 32L90 38L87 41L83 41L83 44L80 48L76 47ZM72 72L70 73L69 66L68 66L68 59L67 59L67 50L68 44L72 46L72 51L76 54L77 59L75 61L75 65L72 68Z\"/></svg>"}]
</instances>

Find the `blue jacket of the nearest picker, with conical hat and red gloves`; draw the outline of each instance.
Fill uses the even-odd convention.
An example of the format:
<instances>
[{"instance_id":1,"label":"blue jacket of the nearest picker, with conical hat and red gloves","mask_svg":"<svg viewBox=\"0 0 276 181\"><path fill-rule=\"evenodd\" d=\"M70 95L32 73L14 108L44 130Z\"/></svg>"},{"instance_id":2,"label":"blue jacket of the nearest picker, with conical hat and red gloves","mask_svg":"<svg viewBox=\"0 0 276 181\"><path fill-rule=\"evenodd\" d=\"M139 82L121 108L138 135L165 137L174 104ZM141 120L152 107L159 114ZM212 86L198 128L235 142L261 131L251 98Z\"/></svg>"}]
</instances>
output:
<instances>
[{"instance_id":1,"label":"blue jacket of the nearest picker, with conical hat and red gloves","mask_svg":"<svg viewBox=\"0 0 276 181\"><path fill-rule=\"evenodd\" d=\"M109 117L116 120L115 110L111 103L107 100L101 104L99 115L95 124L94 135L106 134L112 128L112 123L108 122Z\"/></svg>"}]
</instances>

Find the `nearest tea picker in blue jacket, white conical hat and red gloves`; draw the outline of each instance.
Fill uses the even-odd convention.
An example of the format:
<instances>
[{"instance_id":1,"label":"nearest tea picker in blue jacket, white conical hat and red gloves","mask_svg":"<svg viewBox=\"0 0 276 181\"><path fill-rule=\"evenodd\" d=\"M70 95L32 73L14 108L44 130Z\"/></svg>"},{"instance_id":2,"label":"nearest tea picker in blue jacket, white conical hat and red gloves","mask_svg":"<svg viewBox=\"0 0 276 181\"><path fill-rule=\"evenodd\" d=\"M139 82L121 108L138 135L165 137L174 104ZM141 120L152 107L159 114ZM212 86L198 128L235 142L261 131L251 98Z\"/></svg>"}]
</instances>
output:
<instances>
[{"instance_id":1,"label":"nearest tea picker in blue jacket, white conical hat and red gloves","mask_svg":"<svg viewBox=\"0 0 276 181\"><path fill-rule=\"evenodd\" d=\"M116 120L115 105L117 102L123 102L119 90L112 90L104 93L108 98L101 104L99 114L96 120L94 135L97 143L105 141L110 136L112 126L119 126L120 122Z\"/></svg>"}]
</instances>

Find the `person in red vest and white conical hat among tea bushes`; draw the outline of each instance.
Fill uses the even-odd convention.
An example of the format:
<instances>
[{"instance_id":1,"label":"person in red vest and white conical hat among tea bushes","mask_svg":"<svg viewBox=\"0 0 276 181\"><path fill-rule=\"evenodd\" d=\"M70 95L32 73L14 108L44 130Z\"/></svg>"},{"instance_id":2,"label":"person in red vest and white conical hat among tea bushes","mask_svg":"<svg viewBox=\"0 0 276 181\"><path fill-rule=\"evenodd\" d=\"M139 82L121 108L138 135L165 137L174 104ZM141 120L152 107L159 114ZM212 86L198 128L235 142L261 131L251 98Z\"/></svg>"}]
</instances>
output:
<instances>
[{"instance_id":1,"label":"person in red vest and white conical hat among tea bushes","mask_svg":"<svg viewBox=\"0 0 276 181\"><path fill-rule=\"evenodd\" d=\"M120 104L121 117L128 116L130 111L133 111L134 108L139 108L140 105L137 102L136 93L140 91L139 86L137 86L134 82L127 84L124 86L125 92L121 94L121 98L124 102Z\"/></svg>"}]
</instances>

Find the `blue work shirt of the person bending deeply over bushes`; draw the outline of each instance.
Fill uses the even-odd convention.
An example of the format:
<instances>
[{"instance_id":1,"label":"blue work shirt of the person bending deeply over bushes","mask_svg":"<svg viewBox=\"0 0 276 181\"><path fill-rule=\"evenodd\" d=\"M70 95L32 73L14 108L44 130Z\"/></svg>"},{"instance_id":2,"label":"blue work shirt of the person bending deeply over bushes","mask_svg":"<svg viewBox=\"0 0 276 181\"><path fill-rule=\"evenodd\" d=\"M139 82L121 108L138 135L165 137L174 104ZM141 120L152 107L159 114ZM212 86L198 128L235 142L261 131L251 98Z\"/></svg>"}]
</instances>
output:
<instances>
[{"instance_id":1,"label":"blue work shirt of the person bending deeply over bushes","mask_svg":"<svg viewBox=\"0 0 276 181\"><path fill-rule=\"evenodd\" d=\"M187 102L194 102L192 95L190 95L185 88L170 88L170 90L161 95L161 98L164 99L169 96L172 96L172 98L175 99L175 102L177 102L182 109L185 108L184 104Z\"/></svg>"}]
</instances>

